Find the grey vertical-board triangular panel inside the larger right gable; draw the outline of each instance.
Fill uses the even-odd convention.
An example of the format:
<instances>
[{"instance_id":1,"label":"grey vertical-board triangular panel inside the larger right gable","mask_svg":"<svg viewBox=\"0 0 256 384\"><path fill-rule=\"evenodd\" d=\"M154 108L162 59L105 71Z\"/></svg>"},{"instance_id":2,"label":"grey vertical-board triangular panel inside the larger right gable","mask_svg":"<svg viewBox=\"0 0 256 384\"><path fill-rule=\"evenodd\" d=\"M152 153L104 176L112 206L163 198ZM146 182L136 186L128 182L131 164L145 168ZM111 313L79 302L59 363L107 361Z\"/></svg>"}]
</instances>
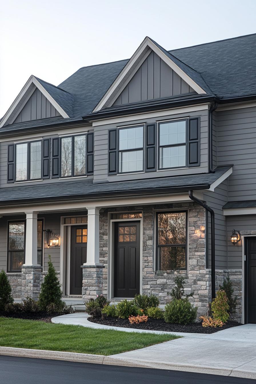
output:
<instances>
[{"instance_id":1,"label":"grey vertical-board triangular panel inside the larger right gable","mask_svg":"<svg viewBox=\"0 0 256 384\"><path fill-rule=\"evenodd\" d=\"M195 91L164 60L151 51L112 105L135 103L189 92Z\"/></svg>"}]
</instances>

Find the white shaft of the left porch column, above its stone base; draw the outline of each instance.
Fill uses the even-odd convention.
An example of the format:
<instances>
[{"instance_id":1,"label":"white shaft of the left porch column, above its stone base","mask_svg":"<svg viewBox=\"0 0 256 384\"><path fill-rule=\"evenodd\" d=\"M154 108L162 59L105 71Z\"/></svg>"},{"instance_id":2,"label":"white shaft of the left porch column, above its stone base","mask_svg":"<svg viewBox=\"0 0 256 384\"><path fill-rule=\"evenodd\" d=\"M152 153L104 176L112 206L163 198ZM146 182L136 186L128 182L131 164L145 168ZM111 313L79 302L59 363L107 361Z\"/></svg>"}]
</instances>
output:
<instances>
[{"instance_id":1,"label":"white shaft of the left porch column, above its stone base","mask_svg":"<svg viewBox=\"0 0 256 384\"><path fill-rule=\"evenodd\" d=\"M25 212L26 214L26 247L25 264L38 266L37 263L37 213Z\"/></svg>"}]
</instances>

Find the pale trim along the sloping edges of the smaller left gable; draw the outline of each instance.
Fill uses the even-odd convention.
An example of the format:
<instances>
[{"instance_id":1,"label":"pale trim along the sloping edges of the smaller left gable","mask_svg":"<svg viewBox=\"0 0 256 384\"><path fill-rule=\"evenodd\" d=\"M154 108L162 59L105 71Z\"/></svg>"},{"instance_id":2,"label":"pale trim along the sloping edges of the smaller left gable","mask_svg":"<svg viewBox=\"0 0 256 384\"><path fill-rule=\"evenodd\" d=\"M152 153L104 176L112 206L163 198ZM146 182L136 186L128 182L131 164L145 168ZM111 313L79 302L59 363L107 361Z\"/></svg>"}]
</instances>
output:
<instances>
[{"instance_id":1,"label":"pale trim along the sloping edges of the smaller left gable","mask_svg":"<svg viewBox=\"0 0 256 384\"><path fill-rule=\"evenodd\" d=\"M38 88L41 93L50 101L50 103L54 106L54 108L61 114L61 116L64 119L69 118L68 114L59 106L59 104L53 99L53 97L46 91L46 89L39 83L39 81L35 78L35 76L31 75L24 87L21 89L20 93L18 94L17 98L13 101L12 105L8 109L7 113L3 116L1 122L0 122L0 128L4 126L4 124L7 122L7 120L10 118L11 114L13 113L14 109L18 106L18 103L20 103L21 99L25 95L26 91L30 87L31 84L34 84L36 88ZM31 95L29 95L31 96ZM16 117L16 116L15 116Z\"/></svg>"}]
</instances>

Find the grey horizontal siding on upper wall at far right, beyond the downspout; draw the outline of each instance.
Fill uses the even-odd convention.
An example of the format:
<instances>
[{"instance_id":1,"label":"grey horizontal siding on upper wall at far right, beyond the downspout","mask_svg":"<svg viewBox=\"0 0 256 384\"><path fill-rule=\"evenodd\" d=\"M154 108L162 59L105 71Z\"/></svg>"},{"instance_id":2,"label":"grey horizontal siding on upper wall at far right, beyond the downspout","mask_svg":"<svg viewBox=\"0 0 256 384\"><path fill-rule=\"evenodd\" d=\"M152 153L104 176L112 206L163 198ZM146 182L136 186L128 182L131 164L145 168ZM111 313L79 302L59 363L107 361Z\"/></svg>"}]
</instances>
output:
<instances>
[{"instance_id":1,"label":"grey horizontal siding on upper wall at far right, beyond the downspout","mask_svg":"<svg viewBox=\"0 0 256 384\"><path fill-rule=\"evenodd\" d=\"M233 164L229 201L256 199L256 107L218 111L218 165Z\"/></svg>"}]
</instances>

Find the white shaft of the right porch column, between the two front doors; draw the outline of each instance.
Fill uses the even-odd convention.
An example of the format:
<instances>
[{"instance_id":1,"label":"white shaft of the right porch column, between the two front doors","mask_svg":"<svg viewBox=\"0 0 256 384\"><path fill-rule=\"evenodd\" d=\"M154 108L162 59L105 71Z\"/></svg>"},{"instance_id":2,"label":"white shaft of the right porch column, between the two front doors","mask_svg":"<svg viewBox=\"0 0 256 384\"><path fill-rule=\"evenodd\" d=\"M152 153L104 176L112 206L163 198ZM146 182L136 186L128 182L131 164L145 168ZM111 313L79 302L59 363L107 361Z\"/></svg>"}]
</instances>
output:
<instances>
[{"instance_id":1,"label":"white shaft of the right porch column, between the two front doors","mask_svg":"<svg viewBox=\"0 0 256 384\"><path fill-rule=\"evenodd\" d=\"M84 265L99 265L99 208L88 210L87 261Z\"/></svg>"}]
</instances>

